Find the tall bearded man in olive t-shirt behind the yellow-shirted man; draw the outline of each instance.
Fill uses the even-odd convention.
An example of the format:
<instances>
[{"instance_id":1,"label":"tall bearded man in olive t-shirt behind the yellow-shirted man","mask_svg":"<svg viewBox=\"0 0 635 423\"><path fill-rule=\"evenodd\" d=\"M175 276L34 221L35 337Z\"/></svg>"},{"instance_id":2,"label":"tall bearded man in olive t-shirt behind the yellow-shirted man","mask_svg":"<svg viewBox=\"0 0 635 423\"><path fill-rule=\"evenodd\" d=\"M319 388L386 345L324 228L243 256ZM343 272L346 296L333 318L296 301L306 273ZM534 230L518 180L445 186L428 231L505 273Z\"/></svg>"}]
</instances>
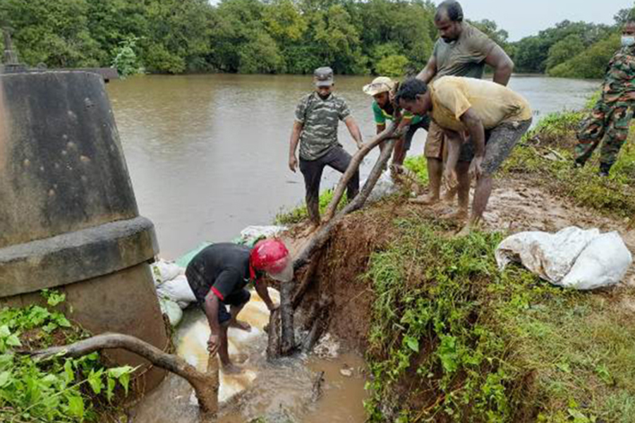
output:
<instances>
[{"instance_id":1,"label":"tall bearded man in olive t-shirt behind the yellow-shirted man","mask_svg":"<svg viewBox=\"0 0 635 423\"><path fill-rule=\"evenodd\" d=\"M485 65L494 68L494 82L507 85L514 62L503 49L476 27L464 22L458 1L443 1L437 7L435 26L439 31L433 54L417 78L428 84L433 78L445 75L482 78ZM439 201L443 173L444 135L434 122L430 124L424 154L428 161L430 194L416 202L433 204ZM466 164L459 164L466 166ZM468 164L467 164L468 166ZM458 168L457 171L461 171ZM466 174L466 173L465 173ZM469 202L469 180L459 181L459 210L466 213ZM452 198L454 192L449 195Z\"/></svg>"}]
</instances>

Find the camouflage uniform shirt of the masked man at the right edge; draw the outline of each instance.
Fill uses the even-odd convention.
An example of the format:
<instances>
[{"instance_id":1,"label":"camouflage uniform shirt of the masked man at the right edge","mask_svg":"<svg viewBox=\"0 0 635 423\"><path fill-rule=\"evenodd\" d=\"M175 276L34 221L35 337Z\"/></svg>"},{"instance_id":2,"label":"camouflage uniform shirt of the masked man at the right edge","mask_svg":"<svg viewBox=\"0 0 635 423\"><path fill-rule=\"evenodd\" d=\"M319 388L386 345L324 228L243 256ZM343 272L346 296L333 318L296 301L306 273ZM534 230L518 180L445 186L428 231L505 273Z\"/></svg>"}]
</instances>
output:
<instances>
[{"instance_id":1,"label":"camouflage uniform shirt of the masked man at the right edge","mask_svg":"<svg viewBox=\"0 0 635 423\"><path fill-rule=\"evenodd\" d=\"M629 94L635 92L635 47L622 47L607 66L602 99L607 104L632 103Z\"/></svg>"}]
</instances>

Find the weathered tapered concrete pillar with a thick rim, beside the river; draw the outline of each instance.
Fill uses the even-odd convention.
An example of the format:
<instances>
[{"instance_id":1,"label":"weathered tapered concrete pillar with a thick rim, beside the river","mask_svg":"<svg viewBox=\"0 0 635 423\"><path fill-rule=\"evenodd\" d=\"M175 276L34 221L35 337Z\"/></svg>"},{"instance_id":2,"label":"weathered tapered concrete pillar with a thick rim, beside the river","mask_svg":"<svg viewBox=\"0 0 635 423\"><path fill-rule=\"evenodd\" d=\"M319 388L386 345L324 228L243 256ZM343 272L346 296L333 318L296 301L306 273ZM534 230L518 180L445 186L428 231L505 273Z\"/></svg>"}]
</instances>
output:
<instances>
[{"instance_id":1,"label":"weathered tapered concrete pillar with a thick rim, beside the river","mask_svg":"<svg viewBox=\"0 0 635 423\"><path fill-rule=\"evenodd\" d=\"M158 252L139 216L104 82L85 72L0 75L0 307L66 293L93 333L169 343L148 262ZM164 372L141 365L141 386Z\"/></svg>"}]
</instances>

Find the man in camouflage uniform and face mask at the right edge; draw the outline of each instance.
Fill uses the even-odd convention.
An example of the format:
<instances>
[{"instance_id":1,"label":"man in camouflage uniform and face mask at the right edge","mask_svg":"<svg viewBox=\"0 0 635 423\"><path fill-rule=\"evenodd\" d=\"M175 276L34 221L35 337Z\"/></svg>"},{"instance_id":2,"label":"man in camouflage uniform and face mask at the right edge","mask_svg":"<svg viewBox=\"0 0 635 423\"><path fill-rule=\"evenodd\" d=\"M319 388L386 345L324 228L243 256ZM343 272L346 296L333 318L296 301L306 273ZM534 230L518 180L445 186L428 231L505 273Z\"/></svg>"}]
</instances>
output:
<instances>
[{"instance_id":1,"label":"man in camouflage uniform and face mask at the right edge","mask_svg":"<svg viewBox=\"0 0 635 423\"><path fill-rule=\"evenodd\" d=\"M608 176L617 154L629 135L635 106L635 20L622 30L622 49L612 57L604 77L602 95L591 114L581 123L575 147L576 167L584 166L600 149L600 175Z\"/></svg>"}]
</instances>

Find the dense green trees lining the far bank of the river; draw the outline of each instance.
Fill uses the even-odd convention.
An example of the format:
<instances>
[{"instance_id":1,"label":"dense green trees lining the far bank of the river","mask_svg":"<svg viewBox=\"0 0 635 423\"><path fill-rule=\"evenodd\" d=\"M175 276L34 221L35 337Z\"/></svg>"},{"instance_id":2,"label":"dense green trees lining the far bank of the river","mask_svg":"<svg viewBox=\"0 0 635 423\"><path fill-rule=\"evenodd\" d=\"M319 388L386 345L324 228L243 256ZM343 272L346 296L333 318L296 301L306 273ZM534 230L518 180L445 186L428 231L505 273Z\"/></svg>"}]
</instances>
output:
<instances>
[{"instance_id":1,"label":"dense green trees lining the far bank of the river","mask_svg":"<svg viewBox=\"0 0 635 423\"><path fill-rule=\"evenodd\" d=\"M491 20L472 23L517 72L599 78L629 10L616 12L615 25L564 21L513 43ZM402 75L425 66L434 13L423 0L2 0L0 25L30 66Z\"/></svg>"}]
</instances>

